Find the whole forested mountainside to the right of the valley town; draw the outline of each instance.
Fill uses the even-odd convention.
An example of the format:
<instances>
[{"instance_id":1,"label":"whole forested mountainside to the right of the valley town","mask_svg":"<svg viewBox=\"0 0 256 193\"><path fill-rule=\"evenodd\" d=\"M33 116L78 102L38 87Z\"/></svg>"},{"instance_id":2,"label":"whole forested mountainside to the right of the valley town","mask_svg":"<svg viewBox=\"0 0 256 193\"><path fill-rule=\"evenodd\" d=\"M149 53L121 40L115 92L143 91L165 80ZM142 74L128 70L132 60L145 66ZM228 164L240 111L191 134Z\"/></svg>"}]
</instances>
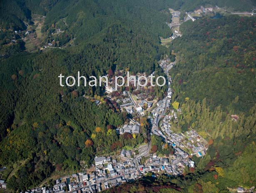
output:
<instances>
[{"instance_id":1,"label":"whole forested mountainside to the right of the valley town","mask_svg":"<svg viewBox=\"0 0 256 193\"><path fill-rule=\"evenodd\" d=\"M256 19L206 17L180 29L170 46L177 59L173 100L181 103L172 129L195 129L209 149L181 176L149 173L105 192L229 193L256 183Z\"/></svg>"}]
</instances>

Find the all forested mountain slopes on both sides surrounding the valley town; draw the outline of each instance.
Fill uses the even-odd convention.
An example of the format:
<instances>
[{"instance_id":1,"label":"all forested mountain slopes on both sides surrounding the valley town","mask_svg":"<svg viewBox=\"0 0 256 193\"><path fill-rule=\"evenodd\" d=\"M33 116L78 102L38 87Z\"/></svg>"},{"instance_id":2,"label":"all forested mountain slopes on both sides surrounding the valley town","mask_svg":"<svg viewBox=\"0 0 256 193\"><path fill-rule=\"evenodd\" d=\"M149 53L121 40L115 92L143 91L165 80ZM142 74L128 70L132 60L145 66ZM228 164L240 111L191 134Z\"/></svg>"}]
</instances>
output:
<instances>
[{"instance_id":1,"label":"all forested mountain slopes on both sides surrounding the valley town","mask_svg":"<svg viewBox=\"0 0 256 193\"><path fill-rule=\"evenodd\" d=\"M224 193L227 187L255 184L255 17L188 21L180 26L182 37L169 49L160 44L159 36L172 34L166 24L171 19L169 7L193 10L216 4L250 11L256 2L1 1L1 45L8 44L9 50L0 58L0 165L12 171L8 188L24 191L52 174L89 166L95 155L109 155L145 140L143 134L117 135L115 129L127 114L102 97L103 88L60 87L60 73L76 76L80 71L89 78L110 69L129 69L163 75L157 61L171 53L177 59L171 70L173 100L181 104L174 126L182 132L196 129L209 139L209 152L204 159L193 157L197 169L187 169L183 176L145 178L108 192ZM31 54L23 51L23 41L9 46L12 30L25 30L32 13L46 16L42 41L56 42L61 49ZM56 28L64 32L51 37ZM165 88L156 88L154 96L161 97ZM99 98L101 105L91 98ZM231 117L234 114L237 121ZM146 119L142 125L147 133ZM162 146L160 141L155 143Z\"/></svg>"}]
</instances>

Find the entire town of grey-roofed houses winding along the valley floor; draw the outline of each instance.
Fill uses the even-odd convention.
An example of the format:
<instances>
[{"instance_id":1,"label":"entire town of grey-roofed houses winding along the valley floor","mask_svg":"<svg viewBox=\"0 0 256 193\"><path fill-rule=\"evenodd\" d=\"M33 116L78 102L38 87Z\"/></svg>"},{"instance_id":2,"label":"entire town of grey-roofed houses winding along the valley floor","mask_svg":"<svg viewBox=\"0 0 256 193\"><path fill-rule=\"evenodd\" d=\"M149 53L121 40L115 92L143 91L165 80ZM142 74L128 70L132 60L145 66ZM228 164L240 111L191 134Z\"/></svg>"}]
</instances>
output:
<instances>
[{"instance_id":1,"label":"entire town of grey-roofed houses winding along the valley floor","mask_svg":"<svg viewBox=\"0 0 256 193\"><path fill-rule=\"evenodd\" d=\"M167 62L169 62L168 59ZM166 68L167 66L164 67L164 65L166 64L162 63L163 68ZM171 83L171 80L169 81ZM113 88L110 87L109 89L109 91L111 91ZM131 150L122 149L119 155L120 161L117 161L117 159L113 159L110 156L96 156L94 158L95 170L91 173L74 173L72 176L57 179L52 188L35 188L26 193L65 193L66 191L72 193L96 193L111 188L112 186L118 186L127 181L134 181L149 171L154 173L164 172L172 175L179 175L183 173L185 166L194 167L194 161L189 158L189 153L182 150L182 148L186 146L193 152L198 152L199 156L203 156L205 154L206 145L199 143L203 141L199 134L193 130L186 132L187 135L184 133L176 134L172 132L170 120L172 117L177 119L174 110L171 111L171 115L164 117L161 124L162 131L165 134L157 129L159 118L162 117L165 110L170 107L171 95L172 90L169 88L167 97L157 102L157 107L152 110L153 117L149 118L151 118L151 122L153 123L151 134L154 133L164 137L166 142L174 148L173 155L169 157L157 157L157 154L153 154L149 156L146 161L143 161L144 159L140 156L137 159L137 163L135 163L134 159L132 159L133 152ZM134 109L141 113L143 110L142 106L144 106L145 103L148 107L153 105L145 100L145 98L147 98L145 94L138 94L135 96L137 98L137 103L135 103L127 91L124 91L122 93L122 98L119 98L117 103L122 102L123 104L120 105L120 107L130 113L134 113ZM95 103L99 102L95 101ZM122 128L117 129L117 132L119 132L119 134L138 134L140 132L140 124L131 119L129 125L126 124ZM6 183L0 181L0 186L6 187Z\"/></svg>"}]
</instances>

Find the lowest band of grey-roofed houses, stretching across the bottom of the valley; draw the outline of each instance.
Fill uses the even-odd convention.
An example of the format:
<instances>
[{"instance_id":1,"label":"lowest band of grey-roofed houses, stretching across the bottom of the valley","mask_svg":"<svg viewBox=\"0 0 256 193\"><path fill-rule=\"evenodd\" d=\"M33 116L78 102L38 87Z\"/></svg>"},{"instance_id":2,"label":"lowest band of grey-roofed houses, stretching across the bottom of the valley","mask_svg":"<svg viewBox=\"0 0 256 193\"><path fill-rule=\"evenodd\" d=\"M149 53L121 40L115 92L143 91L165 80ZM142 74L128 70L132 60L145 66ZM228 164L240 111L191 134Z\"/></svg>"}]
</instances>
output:
<instances>
[{"instance_id":1,"label":"lowest band of grey-roofed houses, stretching across the bottom of the valley","mask_svg":"<svg viewBox=\"0 0 256 193\"><path fill-rule=\"evenodd\" d=\"M121 157L130 157L132 151L122 150ZM150 156L144 164L140 164L142 157L139 157L138 170L133 162L133 159L117 159L111 157L95 157L95 171L88 174L85 172L74 173L72 176L60 178L55 181L55 185L51 188L32 188L25 193L96 193L112 186L119 186L127 181L134 181L142 175L152 171L154 173L166 172L173 175L181 174L184 166L194 167L194 162L188 159L181 160L181 155L184 152L177 149L172 156L175 159L157 157L156 154ZM124 161L122 161L124 160ZM0 180L0 185L4 185L4 181Z\"/></svg>"}]
</instances>

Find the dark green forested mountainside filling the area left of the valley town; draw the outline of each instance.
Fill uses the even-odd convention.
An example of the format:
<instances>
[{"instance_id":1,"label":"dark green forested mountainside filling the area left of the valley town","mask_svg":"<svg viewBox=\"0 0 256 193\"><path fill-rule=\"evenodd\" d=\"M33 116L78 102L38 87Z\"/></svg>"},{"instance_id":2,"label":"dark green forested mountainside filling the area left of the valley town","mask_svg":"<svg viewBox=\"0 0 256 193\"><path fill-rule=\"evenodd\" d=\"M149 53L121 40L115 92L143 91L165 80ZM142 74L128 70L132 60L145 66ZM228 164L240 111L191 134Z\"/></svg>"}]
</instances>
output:
<instances>
[{"instance_id":1,"label":"dark green forested mountainside filling the area left of the valley town","mask_svg":"<svg viewBox=\"0 0 256 193\"><path fill-rule=\"evenodd\" d=\"M70 9L67 10L70 15L65 16L68 27L63 41L68 37L76 39L74 46L35 54L8 46L10 51L0 58L0 165L12 171L7 184L15 191L37 186L55 171L73 172L90 166L95 154L109 155L124 146L142 144L146 138L147 120L141 127L144 134L136 138L131 134L117 135L115 129L123 125L127 114L120 113L118 105L107 98L101 98L99 106L87 99L102 95L102 87L61 87L58 76L60 73L76 76L80 71L89 79L92 75L105 75L109 69L127 67L132 73L163 73L157 61L169 51L159 44L158 35L171 35L165 24L171 15L147 6L133 12L134 7L129 8L128 4L120 12L117 7L121 5L114 3L115 12L104 11L103 7L110 6L106 2L98 2L101 6L95 5L90 10L85 5L92 1L83 2L74 1L74 5L62 2L52 12L48 12L49 8L49 15L46 14L49 26L47 20L45 33L51 30L51 18L55 17L52 14L63 12L58 6ZM24 17L19 17L25 22L31 19L27 10L32 5L27 3L17 1L23 7L20 14ZM159 16L150 16L150 11ZM11 15L10 12L5 13ZM39 13L35 7L33 12ZM141 18L145 13L147 17ZM139 18L133 17L134 14ZM142 20L146 24L139 25ZM54 23L58 25L58 21ZM150 25L154 27L145 28ZM15 24L13 29L25 28ZM5 30L1 33L2 44L9 44L13 34ZM153 95L162 96L163 89L166 87L154 89Z\"/></svg>"}]
</instances>

